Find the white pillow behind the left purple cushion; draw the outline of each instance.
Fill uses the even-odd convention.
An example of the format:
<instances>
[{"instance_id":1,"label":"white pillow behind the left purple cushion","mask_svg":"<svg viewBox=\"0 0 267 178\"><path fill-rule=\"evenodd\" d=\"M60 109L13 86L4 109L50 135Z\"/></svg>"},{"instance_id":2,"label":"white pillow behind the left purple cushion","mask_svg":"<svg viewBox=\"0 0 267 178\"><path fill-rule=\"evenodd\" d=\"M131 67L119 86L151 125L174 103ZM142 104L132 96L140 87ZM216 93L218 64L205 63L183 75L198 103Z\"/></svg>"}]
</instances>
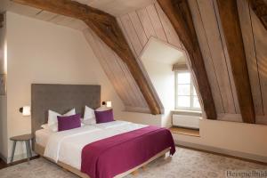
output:
<instances>
[{"instance_id":1,"label":"white pillow behind the left purple cushion","mask_svg":"<svg viewBox=\"0 0 267 178\"><path fill-rule=\"evenodd\" d=\"M58 132L58 116L64 116L64 117L69 117L72 115L75 115L75 109L71 109L69 110L69 112L61 115L53 110L48 110L48 122L47 125L49 127L50 130L52 130L53 132Z\"/></svg>"}]
</instances>

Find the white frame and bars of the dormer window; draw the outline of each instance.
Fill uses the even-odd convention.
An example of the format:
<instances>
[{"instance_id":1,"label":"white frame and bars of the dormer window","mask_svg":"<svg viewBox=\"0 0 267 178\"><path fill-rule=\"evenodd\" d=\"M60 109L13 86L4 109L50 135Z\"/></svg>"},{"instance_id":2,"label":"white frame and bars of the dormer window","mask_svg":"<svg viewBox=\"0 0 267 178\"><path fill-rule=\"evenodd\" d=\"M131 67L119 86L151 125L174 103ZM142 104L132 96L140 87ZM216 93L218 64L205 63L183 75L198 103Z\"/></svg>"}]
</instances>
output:
<instances>
[{"instance_id":1,"label":"white frame and bars of the dormer window","mask_svg":"<svg viewBox=\"0 0 267 178\"><path fill-rule=\"evenodd\" d=\"M194 86L194 83L193 83L191 74L190 74L190 95L188 95L188 96L190 96L190 107L178 107L178 88L177 88L178 87L178 83L177 83L177 76L178 76L179 73L190 73L190 71L187 70L187 69L181 69L181 70L174 71L174 80L175 80L175 82L174 82L174 85L175 85L175 88L174 88L174 90L175 90L175 109L193 110L193 111L199 111L199 110L201 110L201 107L200 108L193 107L195 95L194 95L194 87L193 87ZM197 97L198 97L198 94L197 94ZM199 99L198 99L198 101L199 101Z\"/></svg>"}]
</instances>

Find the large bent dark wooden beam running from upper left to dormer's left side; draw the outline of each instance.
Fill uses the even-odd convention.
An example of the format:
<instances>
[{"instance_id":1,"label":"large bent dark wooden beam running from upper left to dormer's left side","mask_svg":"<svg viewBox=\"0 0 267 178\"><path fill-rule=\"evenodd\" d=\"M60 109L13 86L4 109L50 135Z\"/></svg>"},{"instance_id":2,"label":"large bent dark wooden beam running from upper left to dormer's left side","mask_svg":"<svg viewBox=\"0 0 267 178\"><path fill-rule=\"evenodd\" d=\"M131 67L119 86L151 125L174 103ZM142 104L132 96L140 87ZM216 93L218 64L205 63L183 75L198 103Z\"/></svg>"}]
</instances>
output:
<instances>
[{"instance_id":1,"label":"large bent dark wooden beam running from upper left to dormer's left side","mask_svg":"<svg viewBox=\"0 0 267 178\"><path fill-rule=\"evenodd\" d=\"M48 12L58 13L71 18L84 20L89 28L101 38L117 55L125 62L139 86L152 114L160 114L160 105L153 94L146 77L142 73L138 62L127 44L117 20L109 13L102 12L85 4L79 4L71 0L12 0L15 3L24 4ZM131 94L131 93L129 93Z\"/></svg>"}]
</instances>

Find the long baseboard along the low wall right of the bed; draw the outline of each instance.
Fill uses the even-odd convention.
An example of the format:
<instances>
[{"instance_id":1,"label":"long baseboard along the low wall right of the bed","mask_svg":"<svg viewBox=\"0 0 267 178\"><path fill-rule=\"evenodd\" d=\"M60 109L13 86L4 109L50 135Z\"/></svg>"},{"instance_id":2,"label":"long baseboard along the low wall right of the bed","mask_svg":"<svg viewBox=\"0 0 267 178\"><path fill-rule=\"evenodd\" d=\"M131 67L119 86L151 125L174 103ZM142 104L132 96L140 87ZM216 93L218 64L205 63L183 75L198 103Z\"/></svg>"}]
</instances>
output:
<instances>
[{"instance_id":1,"label":"long baseboard along the low wall right of the bed","mask_svg":"<svg viewBox=\"0 0 267 178\"><path fill-rule=\"evenodd\" d=\"M206 150L209 152L219 153L219 154L223 154L223 155L231 156L235 158L247 159L248 161L251 160L251 161L267 163L267 157L259 156L259 155L255 155L251 153L246 153L246 152L241 152L241 151L236 151L236 150L226 150L226 149L201 145L201 144L192 143L192 142L175 141L175 144L177 146L188 147L188 148L192 148L196 150Z\"/></svg>"}]
</instances>

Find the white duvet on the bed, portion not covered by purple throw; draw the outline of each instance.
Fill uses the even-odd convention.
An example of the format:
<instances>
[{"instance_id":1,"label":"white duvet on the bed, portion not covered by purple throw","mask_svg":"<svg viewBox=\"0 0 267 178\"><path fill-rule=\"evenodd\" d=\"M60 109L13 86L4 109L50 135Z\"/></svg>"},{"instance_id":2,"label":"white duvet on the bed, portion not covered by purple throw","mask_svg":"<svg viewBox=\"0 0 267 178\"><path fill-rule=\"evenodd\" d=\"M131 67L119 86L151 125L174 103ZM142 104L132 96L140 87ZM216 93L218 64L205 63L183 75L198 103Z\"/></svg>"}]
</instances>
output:
<instances>
[{"instance_id":1,"label":"white duvet on the bed, portion not covered by purple throw","mask_svg":"<svg viewBox=\"0 0 267 178\"><path fill-rule=\"evenodd\" d=\"M46 144L44 157L61 161L80 170L81 154L85 145L116 134L127 133L145 127L125 121L113 121L52 134Z\"/></svg>"}]
</instances>

